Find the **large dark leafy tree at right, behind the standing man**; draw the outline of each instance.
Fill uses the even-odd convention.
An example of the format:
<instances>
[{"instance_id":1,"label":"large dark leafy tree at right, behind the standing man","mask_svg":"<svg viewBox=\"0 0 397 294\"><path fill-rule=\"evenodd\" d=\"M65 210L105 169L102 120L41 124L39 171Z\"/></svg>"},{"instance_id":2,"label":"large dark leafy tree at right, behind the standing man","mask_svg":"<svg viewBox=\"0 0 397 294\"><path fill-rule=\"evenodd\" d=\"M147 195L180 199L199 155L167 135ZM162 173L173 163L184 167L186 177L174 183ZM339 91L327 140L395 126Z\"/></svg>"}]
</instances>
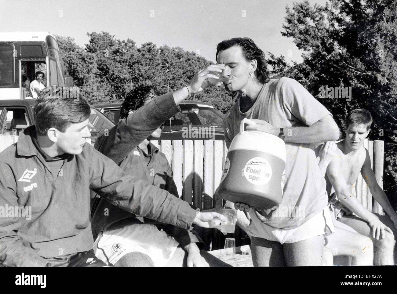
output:
<instances>
[{"instance_id":1,"label":"large dark leafy tree at right, behind the standing man","mask_svg":"<svg viewBox=\"0 0 397 294\"><path fill-rule=\"evenodd\" d=\"M365 108L372 113L369 138L385 141L384 188L395 206L397 1L331 0L326 6L304 1L286 11L281 34L293 38L304 53L302 63L280 70L302 83L342 128L349 111ZM326 85L351 89L351 100L322 95Z\"/></svg>"}]
</instances>

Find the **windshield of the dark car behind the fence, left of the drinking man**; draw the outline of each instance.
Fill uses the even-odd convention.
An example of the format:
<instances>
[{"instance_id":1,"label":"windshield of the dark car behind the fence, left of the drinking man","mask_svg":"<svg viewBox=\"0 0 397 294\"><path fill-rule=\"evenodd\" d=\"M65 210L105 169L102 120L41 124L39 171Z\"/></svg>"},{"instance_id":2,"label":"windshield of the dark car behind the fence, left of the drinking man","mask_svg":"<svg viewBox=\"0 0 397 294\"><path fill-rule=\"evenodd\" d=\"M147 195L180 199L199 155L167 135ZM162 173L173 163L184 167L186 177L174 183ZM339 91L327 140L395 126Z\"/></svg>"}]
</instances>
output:
<instances>
[{"instance_id":1,"label":"windshield of the dark car behind the fence, left of the drinking man","mask_svg":"<svg viewBox=\"0 0 397 294\"><path fill-rule=\"evenodd\" d=\"M191 124L222 127L222 120L222 113L214 108L208 106L181 105L181 111L175 115L172 125Z\"/></svg>"}]
</instances>

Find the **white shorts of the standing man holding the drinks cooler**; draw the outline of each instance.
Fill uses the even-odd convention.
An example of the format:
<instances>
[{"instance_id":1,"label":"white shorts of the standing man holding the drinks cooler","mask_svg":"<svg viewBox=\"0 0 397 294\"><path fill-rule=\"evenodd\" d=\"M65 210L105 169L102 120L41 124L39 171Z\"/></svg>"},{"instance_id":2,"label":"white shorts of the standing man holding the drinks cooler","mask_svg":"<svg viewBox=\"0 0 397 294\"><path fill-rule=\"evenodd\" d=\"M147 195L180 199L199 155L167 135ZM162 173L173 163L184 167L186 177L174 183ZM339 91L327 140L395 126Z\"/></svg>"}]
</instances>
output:
<instances>
[{"instance_id":1,"label":"white shorts of the standing man holding the drinks cooler","mask_svg":"<svg viewBox=\"0 0 397 294\"><path fill-rule=\"evenodd\" d=\"M280 242L281 244L295 243L335 231L328 207L294 229L275 229L262 223L253 211L250 215L252 221L248 226L249 235Z\"/></svg>"}]
</instances>

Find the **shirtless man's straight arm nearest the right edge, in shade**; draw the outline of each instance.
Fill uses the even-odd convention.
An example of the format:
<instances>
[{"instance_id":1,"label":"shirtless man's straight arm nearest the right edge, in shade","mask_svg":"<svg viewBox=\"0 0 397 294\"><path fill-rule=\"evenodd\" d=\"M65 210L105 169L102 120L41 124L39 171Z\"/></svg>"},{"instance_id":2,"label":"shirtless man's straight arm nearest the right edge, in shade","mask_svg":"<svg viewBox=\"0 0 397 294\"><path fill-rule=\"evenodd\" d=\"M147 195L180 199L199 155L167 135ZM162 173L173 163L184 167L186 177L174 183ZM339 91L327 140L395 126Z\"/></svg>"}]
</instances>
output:
<instances>
[{"instance_id":1,"label":"shirtless man's straight arm nearest the right edge, in shade","mask_svg":"<svg viewBox=\"0 0 397 294\"><path fill-rule=\"evenodd\" d=\"M391 206L389 199L387 199L384 190L379 186L378 182L376 181L374 171L372 171L371 168L370 155L368 153L368 150L365 151L366 157L364 164L361 168L361 175L364 178L364 181L367 184L368 188L370 188L372 196L374 196L375 200L378 201L380 206L382 206L382 208L386 211L391 221L393 221L394 226L397 228L397 214Z\"/></svg>"}]
</instances>

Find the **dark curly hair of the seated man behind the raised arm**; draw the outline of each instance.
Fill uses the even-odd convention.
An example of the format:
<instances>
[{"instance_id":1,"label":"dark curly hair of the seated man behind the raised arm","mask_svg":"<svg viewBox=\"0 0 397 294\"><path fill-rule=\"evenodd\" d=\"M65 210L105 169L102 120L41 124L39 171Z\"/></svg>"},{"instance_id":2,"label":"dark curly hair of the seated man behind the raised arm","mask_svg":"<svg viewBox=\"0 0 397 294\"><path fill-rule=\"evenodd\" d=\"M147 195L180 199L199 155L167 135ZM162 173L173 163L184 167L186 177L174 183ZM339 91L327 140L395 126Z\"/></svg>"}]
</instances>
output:
<instances>
[{"instance_id":1,"label":"dark curly hair of the seated man behind the raised arm","mask_svg":"<svg viewBox=\"0 0 397 294\"><path fill-rule=\"evenodd\" d=\"M145 105L147 96L152 91L152 85L138 83L127 93L120 108L120 119L128 116L129 111L135 111Z\"/></svg>"}]
</instances>

